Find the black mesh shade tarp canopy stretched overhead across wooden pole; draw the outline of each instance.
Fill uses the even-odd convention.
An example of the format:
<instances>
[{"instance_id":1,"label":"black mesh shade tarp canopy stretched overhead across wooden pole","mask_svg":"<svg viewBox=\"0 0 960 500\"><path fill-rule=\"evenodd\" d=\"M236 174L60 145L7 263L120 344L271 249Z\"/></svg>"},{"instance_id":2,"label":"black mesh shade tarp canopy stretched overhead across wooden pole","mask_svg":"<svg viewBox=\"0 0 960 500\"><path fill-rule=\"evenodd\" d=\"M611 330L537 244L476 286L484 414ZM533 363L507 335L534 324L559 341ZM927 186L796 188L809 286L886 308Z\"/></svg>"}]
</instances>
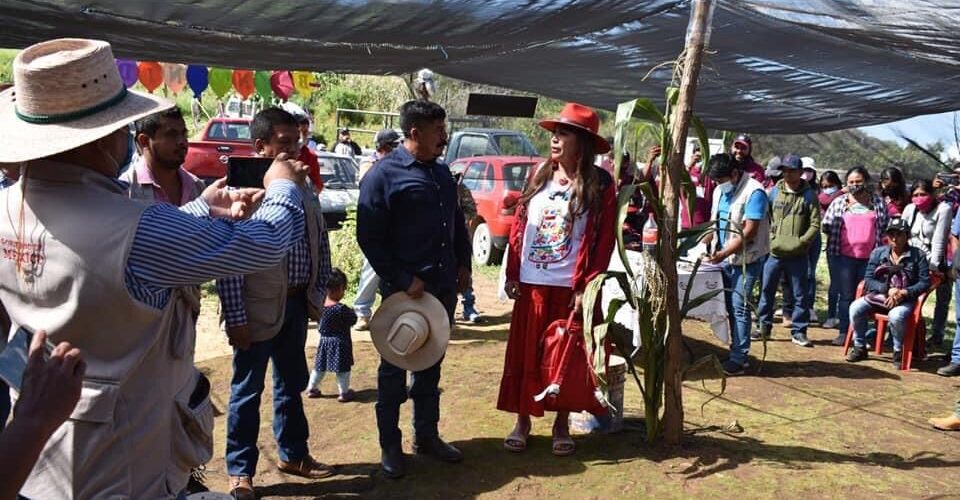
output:
<instances>
[{"instance_id":1,"label":"black mesh shade tarp canopy stretched overhead across wooden pole","mask_svg":"<svg viewBox=\"0 0 960 500\"><path fill-rule=\"evenodd\" d=\"M227 68L428 67L614 109L662 99L671 72L653 69L679 55L689 12L667 0L0 0L0 46L79 36L118 57ZM799 133L960 109L958 21L956 0L720 1L697 113Z\"/></svg>"}]
</instances>

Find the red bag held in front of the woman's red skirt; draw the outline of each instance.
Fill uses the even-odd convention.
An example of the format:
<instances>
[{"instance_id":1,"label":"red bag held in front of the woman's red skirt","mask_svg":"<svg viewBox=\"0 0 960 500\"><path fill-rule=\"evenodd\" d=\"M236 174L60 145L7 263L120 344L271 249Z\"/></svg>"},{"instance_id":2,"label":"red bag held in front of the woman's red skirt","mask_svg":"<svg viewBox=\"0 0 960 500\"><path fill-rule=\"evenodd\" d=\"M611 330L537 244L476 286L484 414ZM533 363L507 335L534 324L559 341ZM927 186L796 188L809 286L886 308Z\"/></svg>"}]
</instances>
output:
<instances>
[{"instance_id":1,"label":"red bag held in front of the woman's red skirt","mask_svg":"<svg viewBox=\"0 0 960 500\"><path fill-rule=\"evenodd\" d=\"M606 415L597 380L583 340L583 324L573 320L550 323L540 340L540 381L543 392L534 396L548 411L588 411Z\"/></svg>"}]
</instances>

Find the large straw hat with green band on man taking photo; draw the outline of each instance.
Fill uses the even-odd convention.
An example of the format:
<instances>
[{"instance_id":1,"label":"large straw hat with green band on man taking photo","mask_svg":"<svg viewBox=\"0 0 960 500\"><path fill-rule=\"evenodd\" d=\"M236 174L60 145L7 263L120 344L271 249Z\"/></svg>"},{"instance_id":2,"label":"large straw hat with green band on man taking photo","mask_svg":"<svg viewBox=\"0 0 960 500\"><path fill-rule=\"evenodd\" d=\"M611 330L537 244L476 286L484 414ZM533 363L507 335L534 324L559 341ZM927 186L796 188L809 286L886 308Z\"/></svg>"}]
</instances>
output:
<instances>
[{"instance_id":1,"label":"large straw hat with green band on man taking photo","mask_svg":"<svg viewBox=\"0 0 960 500\"><path fill-rule=\"evenodd\" d=\"M69 151L171 107L127 90L107 42L61 38L31 45L13 61L13 88L0 93L0 163Z\"/></svg>"}]
</instances>

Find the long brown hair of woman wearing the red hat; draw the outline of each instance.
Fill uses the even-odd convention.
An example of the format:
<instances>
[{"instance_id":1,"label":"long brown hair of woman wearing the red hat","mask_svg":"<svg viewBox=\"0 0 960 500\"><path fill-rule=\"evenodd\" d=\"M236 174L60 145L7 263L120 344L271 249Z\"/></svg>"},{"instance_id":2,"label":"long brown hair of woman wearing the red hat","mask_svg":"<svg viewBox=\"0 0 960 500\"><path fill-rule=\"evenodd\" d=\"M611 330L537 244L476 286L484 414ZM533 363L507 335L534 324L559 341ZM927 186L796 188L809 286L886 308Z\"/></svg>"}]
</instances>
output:
<instances>
[{"instance_id":1,"label":"long brown hair of woman wearing the red hat","mask_svg":"<svg viewBox=\"0 0 960 500\"><path fill-rule=\"evenodd\" d=\"M593 166L594 147L593 137L576 127L557 125L557 130L566 129L574 133L577 142L580 144L580 164L577 165L577 177L572 179L570 185L572 195L570 196L570 214L580 215L587 211L600 210L600 174L597 168ZM560 165L547 160L540 165L537 172L533 175L527 189L520 196L520 205L526 207L530 199L543 189L553 177L553 171L560 168Z\"/></svg>"}]
</instances>

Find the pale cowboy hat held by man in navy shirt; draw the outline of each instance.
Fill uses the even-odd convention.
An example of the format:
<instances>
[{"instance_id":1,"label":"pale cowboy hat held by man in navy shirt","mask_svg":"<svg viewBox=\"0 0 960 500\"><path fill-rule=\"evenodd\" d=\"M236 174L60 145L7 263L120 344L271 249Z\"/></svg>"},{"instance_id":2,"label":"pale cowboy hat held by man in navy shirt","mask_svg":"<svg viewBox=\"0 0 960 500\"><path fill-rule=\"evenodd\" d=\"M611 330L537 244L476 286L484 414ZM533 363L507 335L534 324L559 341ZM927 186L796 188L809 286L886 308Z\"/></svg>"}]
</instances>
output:
<instances>
[{"instance_id":1,"label":"pale cowboy hat held by man in navy shirt","mask_svg":"<svg viewBox=\"0 0 960 500\"><path fill-rule=\"evenodd\" d=\"M450 342L450 317L436 297L406 292L386 298L370 319L373 345L390 364L418 372L435 365Z\"/></svg>"}]
</instances>

